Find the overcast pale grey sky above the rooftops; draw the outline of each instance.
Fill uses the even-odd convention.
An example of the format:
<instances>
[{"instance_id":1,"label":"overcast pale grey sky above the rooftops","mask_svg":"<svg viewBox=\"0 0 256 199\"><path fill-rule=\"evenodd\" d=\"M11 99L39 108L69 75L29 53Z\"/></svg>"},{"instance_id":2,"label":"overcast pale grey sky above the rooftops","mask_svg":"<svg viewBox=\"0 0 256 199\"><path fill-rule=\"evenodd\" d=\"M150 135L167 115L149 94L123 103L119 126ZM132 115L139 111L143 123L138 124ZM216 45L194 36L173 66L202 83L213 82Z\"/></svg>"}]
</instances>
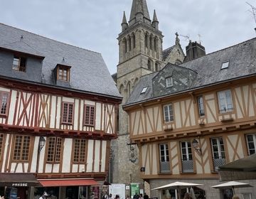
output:
<instances>
[{"instance_id":1,"label":"overcast pale grey sky above the rooftops","mask_svg":"<svg viewBox=\"0 0 256 199\"><path fill-rule=\"evenodd\" d=\"M256 36L255 19L243 0L146 0L164 35L163 47L174 45L178 32L183 49L189 36L206 53ZM247 0L256 6L256 0ZM0 0L0 23L101 53L110 73L118 63L117 36L122 14L127 20L132 0Z\"/></svg>"}]
</instances>

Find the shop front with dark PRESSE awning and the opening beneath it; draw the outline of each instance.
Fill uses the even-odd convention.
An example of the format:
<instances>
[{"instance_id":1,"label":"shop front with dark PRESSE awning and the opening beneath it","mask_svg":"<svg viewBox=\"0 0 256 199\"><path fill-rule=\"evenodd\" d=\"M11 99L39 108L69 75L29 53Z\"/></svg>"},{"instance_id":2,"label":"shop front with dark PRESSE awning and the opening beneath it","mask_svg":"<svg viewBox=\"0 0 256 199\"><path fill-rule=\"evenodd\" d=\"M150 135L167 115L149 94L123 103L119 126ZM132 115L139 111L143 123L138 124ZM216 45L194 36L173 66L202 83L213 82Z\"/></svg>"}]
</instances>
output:
<instances>
[{"instance_id":1,"label":"shop front with dark PRESSE awning and the opening beneath it","mask_svg":"<svg viewBox=\"0 0 256 199\"><path fill-rule=\"evenodd\" d=\"M40 183L32 173L0 173L0 195L5 199L29 198L34 186L40 186Z\"/></svg>"}]
</instances>

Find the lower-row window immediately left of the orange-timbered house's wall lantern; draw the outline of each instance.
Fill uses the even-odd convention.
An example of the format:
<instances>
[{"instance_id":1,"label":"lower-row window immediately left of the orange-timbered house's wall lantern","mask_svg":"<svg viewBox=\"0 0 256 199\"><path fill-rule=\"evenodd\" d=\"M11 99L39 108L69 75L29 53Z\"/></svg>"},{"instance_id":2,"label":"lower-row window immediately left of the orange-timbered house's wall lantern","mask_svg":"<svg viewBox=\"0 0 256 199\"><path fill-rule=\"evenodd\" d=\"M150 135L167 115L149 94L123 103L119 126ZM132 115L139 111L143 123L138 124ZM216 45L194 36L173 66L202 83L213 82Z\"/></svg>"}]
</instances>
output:
<instances>
[{"instance_id":1,"label":"lower-row window immediately left of the orange-timbered house's wall lantern","mask_svg":"<svg viewBox=\"0 0 256 199\"><path fill-rule=\"evenodd\" d=\"M193 172L191 141L181 141L182 172Z\"/></svg>"}]
</instances>

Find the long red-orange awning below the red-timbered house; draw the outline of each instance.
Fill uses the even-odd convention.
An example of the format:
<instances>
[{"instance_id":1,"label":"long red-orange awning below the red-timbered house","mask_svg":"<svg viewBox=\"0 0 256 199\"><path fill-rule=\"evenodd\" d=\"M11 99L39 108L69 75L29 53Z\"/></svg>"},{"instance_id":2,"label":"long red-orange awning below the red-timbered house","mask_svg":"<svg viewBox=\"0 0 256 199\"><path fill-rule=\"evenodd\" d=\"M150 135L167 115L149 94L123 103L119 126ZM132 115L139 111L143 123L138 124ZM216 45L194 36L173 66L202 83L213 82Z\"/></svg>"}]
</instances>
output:
<instances>
[{"instance_id":1,"label":"long red-orange awning below the red-timbered house","mask_svg":"<svg viewBox=\"0 0 256 199\"><path fill-rule=\"evenodd\" d=\"M38 179L44 187L99 185L94 179Z\"/></svg>"}]
</instances>

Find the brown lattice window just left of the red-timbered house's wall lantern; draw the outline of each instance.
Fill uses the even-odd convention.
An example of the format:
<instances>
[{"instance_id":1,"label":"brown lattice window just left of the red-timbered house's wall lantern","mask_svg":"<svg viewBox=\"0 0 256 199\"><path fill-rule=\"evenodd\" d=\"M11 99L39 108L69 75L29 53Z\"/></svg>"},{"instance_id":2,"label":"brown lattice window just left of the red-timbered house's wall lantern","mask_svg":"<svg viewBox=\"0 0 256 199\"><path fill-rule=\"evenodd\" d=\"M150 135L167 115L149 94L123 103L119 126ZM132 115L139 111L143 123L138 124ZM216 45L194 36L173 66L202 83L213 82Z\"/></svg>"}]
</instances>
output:
<instances>
[{"instance_id":1,"label":"brown lattice window just left of the red-timbered house's wall lantern","mask_svg":"<svg viewBox=\"0 0 256 199\"><path fill-rule=\"evenodd\" d=\"M30 136L15 136L14 161L28 161L30 139Z\"/></svg>"}]
</instances>

